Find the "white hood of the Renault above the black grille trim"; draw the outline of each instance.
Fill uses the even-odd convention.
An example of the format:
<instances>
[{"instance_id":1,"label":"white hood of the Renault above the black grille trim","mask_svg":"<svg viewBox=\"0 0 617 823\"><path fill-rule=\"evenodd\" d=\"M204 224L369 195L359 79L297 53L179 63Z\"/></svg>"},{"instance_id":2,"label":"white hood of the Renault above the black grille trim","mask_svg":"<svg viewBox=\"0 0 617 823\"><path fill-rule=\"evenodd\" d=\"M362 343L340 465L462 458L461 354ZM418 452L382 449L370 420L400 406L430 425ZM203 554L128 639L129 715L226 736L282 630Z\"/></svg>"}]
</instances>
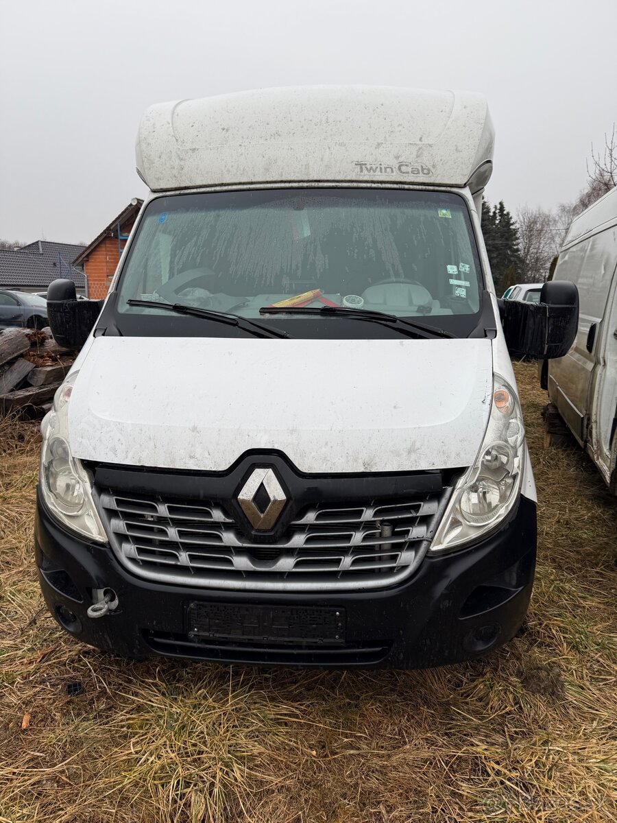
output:
<instances>
[{"instance_id":1,"label":"white hood of the Renault above the black grille trim","mask_svg":"<svg viewBox=\"0 0 617 823\"><path fill-rule=\"evenodd\" d=\"M300 472L469 466L489 340L97 337L69 403L84 460L223 471L276 449Z\"/></svg>"}]
</instances>

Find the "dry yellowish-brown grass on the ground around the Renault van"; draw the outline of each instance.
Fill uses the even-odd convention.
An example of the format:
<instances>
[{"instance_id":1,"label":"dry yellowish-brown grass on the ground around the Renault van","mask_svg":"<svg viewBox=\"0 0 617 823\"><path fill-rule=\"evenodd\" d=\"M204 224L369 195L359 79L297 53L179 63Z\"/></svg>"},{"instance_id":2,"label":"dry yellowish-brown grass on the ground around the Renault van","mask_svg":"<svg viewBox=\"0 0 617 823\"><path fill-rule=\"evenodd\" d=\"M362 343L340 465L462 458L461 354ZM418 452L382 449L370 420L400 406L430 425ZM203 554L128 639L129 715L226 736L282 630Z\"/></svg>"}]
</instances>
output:
<instances>
[{"instance_id":1,"label":"dry yellowish-brown grass on the ground around the Renault van","mask_svg":"<svg viewBox=\"0 0 617 823\"><path fill-rule=\"evenodd\" d=\"M36 425L3 424L0 821L617 821L617 504L580 450L543 449L535 365L517 379L540 498L527 625L427 672L126 663L76 643L36 583Z\"/></svg>"}]
</instances>

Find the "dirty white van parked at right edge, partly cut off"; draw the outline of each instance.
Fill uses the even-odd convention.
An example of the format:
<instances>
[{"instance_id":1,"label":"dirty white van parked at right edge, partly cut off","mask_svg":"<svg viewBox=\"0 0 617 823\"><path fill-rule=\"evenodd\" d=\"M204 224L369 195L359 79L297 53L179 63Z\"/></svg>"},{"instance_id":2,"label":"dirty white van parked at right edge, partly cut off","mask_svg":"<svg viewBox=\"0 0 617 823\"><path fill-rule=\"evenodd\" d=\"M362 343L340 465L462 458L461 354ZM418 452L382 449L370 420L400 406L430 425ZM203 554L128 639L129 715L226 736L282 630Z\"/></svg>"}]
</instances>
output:
<instances>
[{"instance_id":1,"label":"dirty white van parked at right edge, partly cut off","mask_svg":"<svg viewBox=\"0 0 617 823\"><path fill-rule=\"evenodd\" d=\"M554 281L576 283L581 314L574 345L540 364L542 388L617 494L617 188L576 217Z\"/></svg>"}]
</instances>

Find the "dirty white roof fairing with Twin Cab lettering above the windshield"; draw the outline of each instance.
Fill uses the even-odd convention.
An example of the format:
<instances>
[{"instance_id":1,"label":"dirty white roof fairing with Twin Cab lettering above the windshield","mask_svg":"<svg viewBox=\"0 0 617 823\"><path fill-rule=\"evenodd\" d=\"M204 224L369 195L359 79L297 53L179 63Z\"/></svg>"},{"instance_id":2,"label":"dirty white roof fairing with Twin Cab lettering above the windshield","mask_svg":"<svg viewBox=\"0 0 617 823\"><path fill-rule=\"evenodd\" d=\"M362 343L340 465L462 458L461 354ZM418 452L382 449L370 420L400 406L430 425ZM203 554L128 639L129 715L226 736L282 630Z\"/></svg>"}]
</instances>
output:
<instances>
[{"instance_id":1,"label":"dirty white roof fairing with Twin Cab lettering above the windshield","mask_svg":"<svg viewBox=\"0 0 617 823\"><path fill-rule=\"evenodd\" d=\"M493 144L483 95L291 86L153 105L136 153L152 191L324 180L464 187Z\"/></svg>"}]
</instances>

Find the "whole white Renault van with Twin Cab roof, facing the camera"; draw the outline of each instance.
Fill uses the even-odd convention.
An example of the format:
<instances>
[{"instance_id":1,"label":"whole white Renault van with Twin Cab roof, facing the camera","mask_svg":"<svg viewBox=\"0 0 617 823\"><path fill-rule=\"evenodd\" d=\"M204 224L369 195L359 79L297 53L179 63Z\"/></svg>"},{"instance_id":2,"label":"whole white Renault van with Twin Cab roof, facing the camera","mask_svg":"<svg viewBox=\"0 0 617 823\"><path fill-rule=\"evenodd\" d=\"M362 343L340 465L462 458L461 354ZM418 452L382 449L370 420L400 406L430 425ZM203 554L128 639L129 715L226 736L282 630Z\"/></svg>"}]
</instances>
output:
<instances>
[{"instance_id":1,"label":"whole white Renault van with Twin Cab roof, facing the camera","mask_svg":"<svg viewBox=\"0 0 617 823\"><path fill-rule=\"evenodd\" d=\"M35 533L65 630L336 667L515 634L536 490L507 341L563 354L577 297L504 304L504 334L478 218L492 151L467 93L146 111L151 194L100 315L49 287L54 335L83 343L42 425Z\"/></svg>"}]
</instances>

